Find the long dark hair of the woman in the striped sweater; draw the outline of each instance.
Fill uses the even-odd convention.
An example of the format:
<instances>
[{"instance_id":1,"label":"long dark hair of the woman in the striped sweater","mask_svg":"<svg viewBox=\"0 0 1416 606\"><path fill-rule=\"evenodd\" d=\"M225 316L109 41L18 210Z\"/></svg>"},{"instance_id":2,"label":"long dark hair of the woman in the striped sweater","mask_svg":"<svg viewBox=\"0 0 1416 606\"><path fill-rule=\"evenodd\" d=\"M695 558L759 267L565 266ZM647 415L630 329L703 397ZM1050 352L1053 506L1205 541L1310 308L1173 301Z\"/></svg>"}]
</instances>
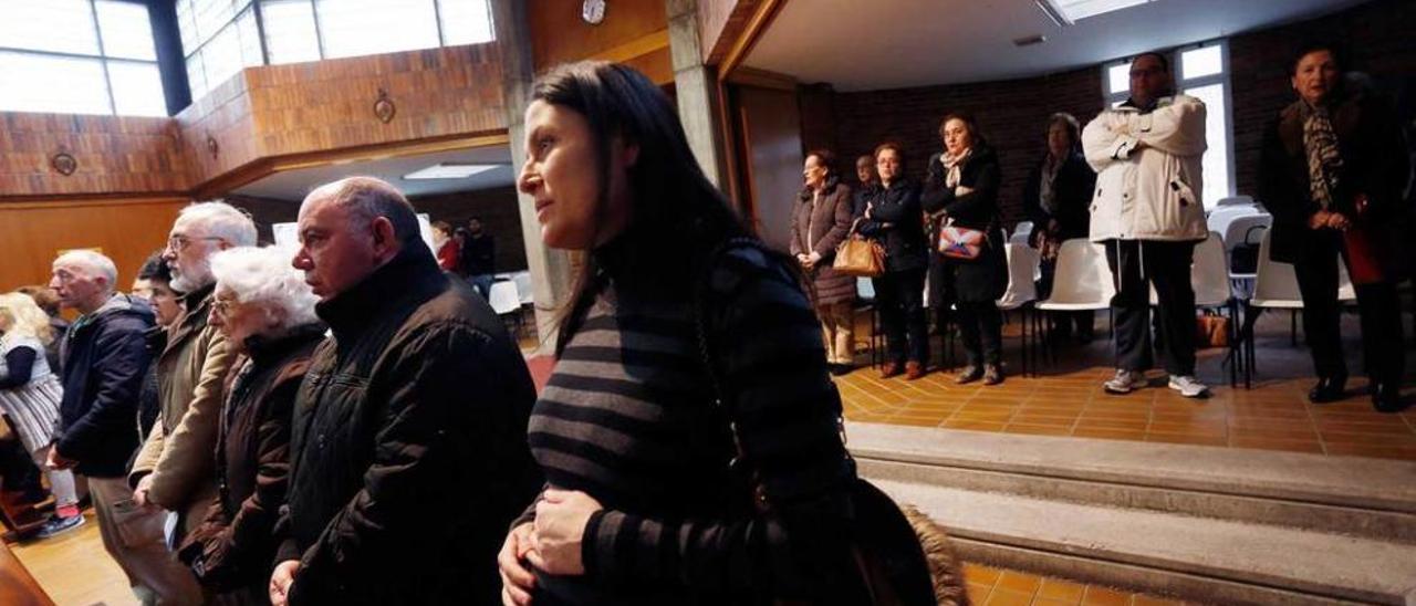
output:
<instances>
[{"instance_id":1,"label":"long dark hair of the woman in the striped sweater","mask_svg":"<svg viewBox=\"0 0 1416 606\"><path fill-rule=\"evenodd\" d=\"M566 64L541 76L531 98L572 109L589 123L600 176L600 217L609 207L612 143L620 137L624 144L639 146L629 168L630 222L622 238L637 251L632 255L634 273L646 282L664 289L691 287L718 242L752 234L698 167L673 103L643 74L606 61ZM586 255L575 295L561 313L556 357L595 300L600 273L596 255Z\"/></svg>"}]
</instances>

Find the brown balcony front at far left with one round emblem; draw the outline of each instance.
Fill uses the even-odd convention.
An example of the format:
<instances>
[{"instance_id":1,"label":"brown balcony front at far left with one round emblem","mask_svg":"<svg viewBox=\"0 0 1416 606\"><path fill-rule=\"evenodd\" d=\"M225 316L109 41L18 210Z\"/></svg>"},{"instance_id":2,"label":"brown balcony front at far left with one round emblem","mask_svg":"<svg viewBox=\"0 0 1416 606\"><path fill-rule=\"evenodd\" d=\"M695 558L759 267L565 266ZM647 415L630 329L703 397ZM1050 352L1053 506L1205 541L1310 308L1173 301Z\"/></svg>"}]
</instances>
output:
<instances>
[{"instance_id":1,"label":"brown balcony front at far left with one round emblem","mask_svg":"<svg viewBox=\"0 0 1416 606\"><path fill-rule=\"evenodd\" d=\"M61 150L78 160L64 176ZM166 118L0 112L0 195L176 193L193 176Z\"/></svg>"}]
</instances>

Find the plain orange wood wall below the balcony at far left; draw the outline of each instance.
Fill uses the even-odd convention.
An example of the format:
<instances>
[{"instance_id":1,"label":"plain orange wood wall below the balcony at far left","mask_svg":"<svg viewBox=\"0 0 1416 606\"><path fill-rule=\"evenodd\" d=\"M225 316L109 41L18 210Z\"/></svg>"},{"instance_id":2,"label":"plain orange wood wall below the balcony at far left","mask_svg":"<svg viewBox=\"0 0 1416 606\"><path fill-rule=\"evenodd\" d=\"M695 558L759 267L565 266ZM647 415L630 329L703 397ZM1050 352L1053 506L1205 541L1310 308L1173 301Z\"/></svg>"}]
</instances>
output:
<instances>
[{"instance_id":1,"label":"plain orange wood wall below the balcony at far left","mask_svg":"<svg viewBox=\"0 0 1416 606\"><path fill-rule=\"evenodd\" d=\"M0 202L0 292L48 283L54 258L69 248L102 248L127 290L184 205L185 197Z\"/></svg>"}]
</instances>

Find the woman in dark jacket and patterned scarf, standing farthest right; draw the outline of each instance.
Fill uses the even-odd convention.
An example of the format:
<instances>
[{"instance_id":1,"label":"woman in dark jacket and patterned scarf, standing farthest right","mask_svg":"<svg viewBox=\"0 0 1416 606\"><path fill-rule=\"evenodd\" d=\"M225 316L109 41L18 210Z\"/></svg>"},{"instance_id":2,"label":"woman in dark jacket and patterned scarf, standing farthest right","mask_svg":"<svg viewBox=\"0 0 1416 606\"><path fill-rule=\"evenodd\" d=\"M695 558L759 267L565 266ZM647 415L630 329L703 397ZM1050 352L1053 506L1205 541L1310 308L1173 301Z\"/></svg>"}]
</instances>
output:
<instances>
[{"instance_id":1,"label":"woman in dark jacket and patterned scarf, standing farthest right","mask_svg":"<svg viewBox=\"0 0 1416 606\"><path fill-rule=\"evenodd\" d=\"M1341 68L1328 45L1308 45L1294 57L1290 74L1298 101L1267 130L1259 200L1273 214L1273 259L1293 263L1303 295L1303 330L1318 375L1308 398L1331 402L1344 395L1341 253L1357 287L1372 404L1396 412L1405 408L1406 360L1396 295L1403 255L1393 225L1405 214L1402 188L1410 166L1391 109L1355 82L1344 82Z\"/></svg>"}]
</instances>

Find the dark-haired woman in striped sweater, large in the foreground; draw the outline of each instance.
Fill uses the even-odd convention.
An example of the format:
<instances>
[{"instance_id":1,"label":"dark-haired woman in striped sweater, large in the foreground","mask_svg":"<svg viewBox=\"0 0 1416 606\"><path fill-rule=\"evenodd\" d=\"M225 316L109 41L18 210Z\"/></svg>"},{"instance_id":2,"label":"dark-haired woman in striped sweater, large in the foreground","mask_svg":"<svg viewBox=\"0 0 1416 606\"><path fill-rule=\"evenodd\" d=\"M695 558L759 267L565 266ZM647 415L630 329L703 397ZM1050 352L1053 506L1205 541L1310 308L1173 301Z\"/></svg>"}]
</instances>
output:
<instances>
[{"instance_id":1,"label":"dark-haired woman in striped sweater, large in the foreground","mask_svg":"<svg viewBox=\"0 0 1416 606\"><path fill-rule=\"evenodd\" d=\"M840 395L790 259L748 239L641 74L566 65L532 96L518 187L547 245L588 255L530 422L548 484L498 556L503 600L862 603ZM770 507L729 470L739 447Z\"/></svg>"}]
</instances>

